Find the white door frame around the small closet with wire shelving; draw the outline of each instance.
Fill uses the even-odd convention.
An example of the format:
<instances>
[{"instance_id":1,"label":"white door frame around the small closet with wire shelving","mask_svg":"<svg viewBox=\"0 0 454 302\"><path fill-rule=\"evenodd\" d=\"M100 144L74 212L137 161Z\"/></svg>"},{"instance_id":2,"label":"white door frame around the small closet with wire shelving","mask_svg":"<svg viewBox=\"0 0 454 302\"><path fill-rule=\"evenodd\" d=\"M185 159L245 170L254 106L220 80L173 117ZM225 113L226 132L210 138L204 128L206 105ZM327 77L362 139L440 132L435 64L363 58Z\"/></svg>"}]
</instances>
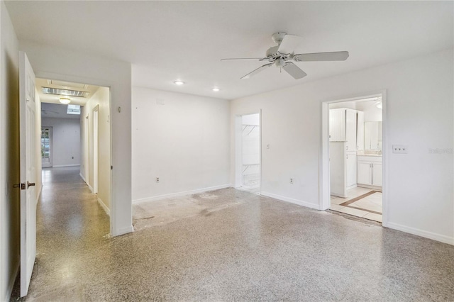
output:
<instances>
[{"instance_id":1,"label":"white door frame around the small closet with wire shelving","mask_svg":"<svg viewBox=\"0 0 454 302\"><path fill-rule=\"evenodd\" d=\"M241 113L235 116L235 188L241 189L241 176L242 176L242 167L243 167L243 116L250 116L253 114L258 114L260 131L259 131L259 156L260 156L260 184L259 184L259 194L262 193L262 109L259 111L253 111L249 113Z\"/></svg>"}]
</instances>

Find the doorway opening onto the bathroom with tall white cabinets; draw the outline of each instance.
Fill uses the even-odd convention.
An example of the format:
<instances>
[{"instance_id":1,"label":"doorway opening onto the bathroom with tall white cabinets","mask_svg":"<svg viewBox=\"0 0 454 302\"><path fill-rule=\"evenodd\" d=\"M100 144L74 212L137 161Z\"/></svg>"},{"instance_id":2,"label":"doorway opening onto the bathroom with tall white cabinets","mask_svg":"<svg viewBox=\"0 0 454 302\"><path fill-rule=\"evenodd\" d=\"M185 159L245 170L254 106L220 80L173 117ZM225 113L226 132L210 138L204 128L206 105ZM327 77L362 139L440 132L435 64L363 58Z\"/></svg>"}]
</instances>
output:
<instances>
[{"instance_id":1,"label":"doorway opening onto the bathroom with tall white cabinets","mask_svg":"<svg viewBox=\"0 0 454 302\"><path fill-rule=\"evenodd\" d=\"M328 102L323 118L328 121L327 208L379 223L385 207L383 103L382 94Z\"/></svg>"}]
</instances>

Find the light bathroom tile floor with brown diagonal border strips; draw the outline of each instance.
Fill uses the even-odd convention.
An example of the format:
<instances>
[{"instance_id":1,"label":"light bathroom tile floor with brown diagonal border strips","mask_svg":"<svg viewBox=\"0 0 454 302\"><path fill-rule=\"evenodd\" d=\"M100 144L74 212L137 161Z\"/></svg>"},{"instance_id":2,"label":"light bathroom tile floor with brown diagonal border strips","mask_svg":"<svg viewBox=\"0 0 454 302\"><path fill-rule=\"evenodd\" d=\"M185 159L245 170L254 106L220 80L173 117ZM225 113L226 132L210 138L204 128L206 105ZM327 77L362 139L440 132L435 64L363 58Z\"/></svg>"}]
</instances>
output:
<instances>
[{"instance_id":1,"label":"light bathroom tile floor with brown diagonal border strips","mask_svg":"<svg viewBox=\"0 0 454 302\"><path fill-rule=\"evenodd\" d=\"M382 192L356 187L347 198L331 196L330 210L382 222Z\"/></svg>"}]
</instances>

